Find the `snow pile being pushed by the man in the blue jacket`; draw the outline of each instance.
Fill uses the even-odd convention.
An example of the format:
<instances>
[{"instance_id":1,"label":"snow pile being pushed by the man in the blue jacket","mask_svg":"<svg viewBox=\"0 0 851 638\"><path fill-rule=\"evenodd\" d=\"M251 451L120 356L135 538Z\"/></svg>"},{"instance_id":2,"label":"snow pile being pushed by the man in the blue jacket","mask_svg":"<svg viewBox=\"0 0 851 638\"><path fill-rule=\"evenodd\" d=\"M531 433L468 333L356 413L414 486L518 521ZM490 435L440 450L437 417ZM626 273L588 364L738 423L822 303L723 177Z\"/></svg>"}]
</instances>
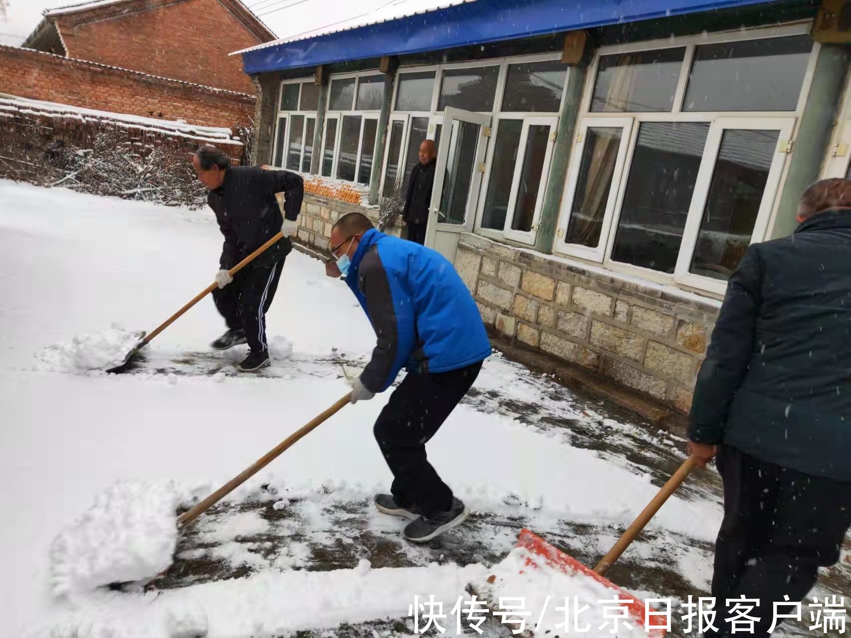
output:
<instances>
[{"instance_id":1,"label":"snow pile being pushed by the man in the blue jacket","mask_svg":"<svg viewBox=\"0 0 851 638\"><path fill-rule=\"evenodd\" d=\"M171 565L177 544L171 481L118 481L50 546L54 594L152 578Z\"/></svg>"}]
</instances>

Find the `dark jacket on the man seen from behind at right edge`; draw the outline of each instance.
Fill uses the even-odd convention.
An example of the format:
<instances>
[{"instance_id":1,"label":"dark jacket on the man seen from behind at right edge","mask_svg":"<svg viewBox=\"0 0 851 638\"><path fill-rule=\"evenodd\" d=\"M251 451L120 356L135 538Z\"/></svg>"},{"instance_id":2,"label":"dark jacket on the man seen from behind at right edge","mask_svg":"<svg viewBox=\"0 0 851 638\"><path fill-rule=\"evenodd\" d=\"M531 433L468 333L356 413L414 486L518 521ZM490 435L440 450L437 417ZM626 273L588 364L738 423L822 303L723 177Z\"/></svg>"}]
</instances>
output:
<instances>
[{"instance_id":1,"label":"dark jacket on the man seen from behind at right edge","mask_svg":"<svg viewBox=\"0 0 851 638\"><path fill-rule=\"evenodd\" d=\"M748 248L700 368L688 436L851 481L851 209Z\"/></svg>"}]
</instances>

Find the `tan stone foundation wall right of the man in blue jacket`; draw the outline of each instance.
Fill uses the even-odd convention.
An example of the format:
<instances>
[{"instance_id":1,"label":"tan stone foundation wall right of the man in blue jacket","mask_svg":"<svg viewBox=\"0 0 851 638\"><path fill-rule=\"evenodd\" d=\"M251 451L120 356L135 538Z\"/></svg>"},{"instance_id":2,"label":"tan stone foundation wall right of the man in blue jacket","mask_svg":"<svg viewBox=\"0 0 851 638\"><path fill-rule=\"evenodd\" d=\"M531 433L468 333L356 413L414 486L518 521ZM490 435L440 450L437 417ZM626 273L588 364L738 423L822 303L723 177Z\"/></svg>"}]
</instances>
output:
<instances>
[{"instance_id":1,"label":"tan stone foundation wall right of the man in blue jacket","mask_svg":"<svg viewBox=\"0 0 851 638\"><path fill-rule=\"evenodd\" d=\"M455 268L505 338L688 412L720 302L471 234Z\"/></svg>"}]
</instances>

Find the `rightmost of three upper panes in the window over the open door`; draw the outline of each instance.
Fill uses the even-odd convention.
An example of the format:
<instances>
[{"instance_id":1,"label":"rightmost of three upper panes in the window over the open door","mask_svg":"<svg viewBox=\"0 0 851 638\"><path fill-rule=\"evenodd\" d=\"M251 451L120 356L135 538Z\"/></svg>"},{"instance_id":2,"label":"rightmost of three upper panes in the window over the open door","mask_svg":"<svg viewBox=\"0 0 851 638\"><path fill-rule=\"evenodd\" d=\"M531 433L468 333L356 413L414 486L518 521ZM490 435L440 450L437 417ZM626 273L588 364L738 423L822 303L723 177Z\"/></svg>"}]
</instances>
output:
<instances>
[{"instance_id":1,"label":"rightmost of three upper panes in the window over the open door","mask_svg":"<svg viewBox=\"0 0 851 638\"><path fill-rule=\"evenodd\" d=\"M509 65L502 110L557 113L567 77L568 67L559 60Z\"/></svg>"}]
</instances>

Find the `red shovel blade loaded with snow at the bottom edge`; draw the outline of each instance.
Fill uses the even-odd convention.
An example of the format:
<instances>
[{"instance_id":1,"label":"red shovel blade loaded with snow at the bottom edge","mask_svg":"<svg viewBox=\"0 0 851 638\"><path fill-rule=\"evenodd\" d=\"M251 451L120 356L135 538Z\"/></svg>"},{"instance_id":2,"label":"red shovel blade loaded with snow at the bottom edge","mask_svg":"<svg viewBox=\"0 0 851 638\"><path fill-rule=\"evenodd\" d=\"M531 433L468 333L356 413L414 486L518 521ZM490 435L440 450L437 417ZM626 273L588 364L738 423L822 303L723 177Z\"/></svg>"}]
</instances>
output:
<instances>
[{"instance_id":1,"label":"red shovel blade loaded with snow at the bottom edge","mask_svg":"<svg viewBox=\"0 0 851 638\"><path fill-rule=\"evenodd\" d=\"M504 623L516 626L520 618L525 618L526 627L534 635L574 632L574 623L580 631L585 626L593 631L604 627L604 633L615 638L665 635L664 625L657 626L665 620L660 616L650 616L645 630L647 612L656 612L653 607L644 605L638 596L593 572L528 529L520 532L515 548L490 573L487 583L474 584L474 590L490 601ZM520 599L523 610L516 607ZM513 611L511 606L515 606ZM626 608L628 618L614 619L619 607ZM583 610L578 615L577 608ZM608 614L603 611L606 608ZM565 627L566 621L571 626ZM613 627L617 631L611 633Z\"/></svg>"}]
</instances>

